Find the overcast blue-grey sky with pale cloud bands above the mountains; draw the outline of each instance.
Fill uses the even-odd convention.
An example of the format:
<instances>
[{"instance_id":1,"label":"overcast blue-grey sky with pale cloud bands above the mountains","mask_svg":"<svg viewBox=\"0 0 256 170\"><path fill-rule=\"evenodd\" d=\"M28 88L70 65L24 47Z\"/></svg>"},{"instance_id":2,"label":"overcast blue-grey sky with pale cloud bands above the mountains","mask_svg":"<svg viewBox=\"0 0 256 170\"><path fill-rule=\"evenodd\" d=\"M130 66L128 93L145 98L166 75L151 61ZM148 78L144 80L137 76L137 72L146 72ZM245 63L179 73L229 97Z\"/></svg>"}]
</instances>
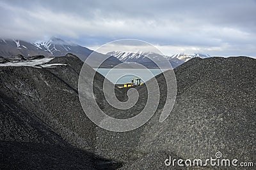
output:
<instances>
[{"instance_id":1,"label":"overcast blue-grey sky with pale cloud bands above the mountains","mask_svg":"<svg viewBox=\"0 0 256 170\"><path fill-rule=\"evenodd\" d=\"M164 54L256 56L255 0L1 1L0 37L57 36L92 49L134 38Z\"/></svg>"}]
</instances>

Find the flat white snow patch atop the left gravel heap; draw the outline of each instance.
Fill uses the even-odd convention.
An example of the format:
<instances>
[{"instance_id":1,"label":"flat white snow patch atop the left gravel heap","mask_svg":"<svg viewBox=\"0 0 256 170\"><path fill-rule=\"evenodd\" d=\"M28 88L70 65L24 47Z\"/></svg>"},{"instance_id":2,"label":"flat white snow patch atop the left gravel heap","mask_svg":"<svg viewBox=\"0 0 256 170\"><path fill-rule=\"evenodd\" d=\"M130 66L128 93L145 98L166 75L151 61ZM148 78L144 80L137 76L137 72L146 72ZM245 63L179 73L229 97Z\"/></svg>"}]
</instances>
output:
<instances>
[{"instance_id":1,"label":"flat white snow patch atop the left gravel heap","mask_svg":"<svg viewBox=\"0 0 256 170\"><path fill-rule=\"evenodd\" d=\"M54 67L54 66L66 66L67 64L45 64L49 62L50 60L54 59L52 58L44 58L44 59L36 59L36 60L26 60L22 62L7 62L4 64L0 64L0 67L6 67L6 66L29 66L29 67Z\"/></svg>"}]
</instances>

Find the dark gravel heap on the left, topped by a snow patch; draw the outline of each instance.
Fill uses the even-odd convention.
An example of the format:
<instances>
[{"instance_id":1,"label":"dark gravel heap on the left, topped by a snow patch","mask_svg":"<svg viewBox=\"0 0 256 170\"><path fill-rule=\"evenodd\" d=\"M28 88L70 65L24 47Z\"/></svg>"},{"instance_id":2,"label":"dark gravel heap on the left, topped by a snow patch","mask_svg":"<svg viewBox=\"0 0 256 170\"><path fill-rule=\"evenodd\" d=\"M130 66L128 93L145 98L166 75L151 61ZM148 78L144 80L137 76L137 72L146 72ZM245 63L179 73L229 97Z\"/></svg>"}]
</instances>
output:
<instances>
[{"instance_id":1,"label":"dark gravel heap on the left, topped by a snow patch","mask_svg":"<svg viewBox=\"0 0 256 170\"><path fill-rule=\"evenodd\" d=\"M120 166L93 153L95 125L84 114L77 94L83 62L68 55L48 64L54 63L67 65L0 67L1 169Z\"/></svg>"}]
</instances>

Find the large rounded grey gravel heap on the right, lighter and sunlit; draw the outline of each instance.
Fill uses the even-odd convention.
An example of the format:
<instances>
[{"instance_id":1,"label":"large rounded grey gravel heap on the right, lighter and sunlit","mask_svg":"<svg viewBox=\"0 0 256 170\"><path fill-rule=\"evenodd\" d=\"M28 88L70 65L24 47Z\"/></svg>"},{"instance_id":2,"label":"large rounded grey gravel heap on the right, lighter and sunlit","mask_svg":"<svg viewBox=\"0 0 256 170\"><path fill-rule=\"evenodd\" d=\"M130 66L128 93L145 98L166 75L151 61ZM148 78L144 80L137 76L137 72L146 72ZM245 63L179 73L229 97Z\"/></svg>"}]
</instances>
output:
<instances>
[{"instance_id":1,"label":"large rounded grey gravel heap on the right, lighter and sunlit","mask_svg":"<svg viewBox=\"0 0 256 170\"><path fill-rule=\"evenodd\" d=\"M189 60L175 69L177 101L168 119L159 123L165 102L164 83L159 83L162 97L154 117L131 132L98 129L98 154L124 162L132 160L126 164L127 169L131 164L140 169L143 161L154 167L157 160L146 158L159 152L202 160L215 158L215 153L221 152L225 159L255 162L255 72L255 59L248 57ZM157 76L157 81L163 79L163 75ZM143 87L138 91L141 98L147 93ZM141 106L143 103L136 108L140 110Z\"/></svg>"}]
</instances>

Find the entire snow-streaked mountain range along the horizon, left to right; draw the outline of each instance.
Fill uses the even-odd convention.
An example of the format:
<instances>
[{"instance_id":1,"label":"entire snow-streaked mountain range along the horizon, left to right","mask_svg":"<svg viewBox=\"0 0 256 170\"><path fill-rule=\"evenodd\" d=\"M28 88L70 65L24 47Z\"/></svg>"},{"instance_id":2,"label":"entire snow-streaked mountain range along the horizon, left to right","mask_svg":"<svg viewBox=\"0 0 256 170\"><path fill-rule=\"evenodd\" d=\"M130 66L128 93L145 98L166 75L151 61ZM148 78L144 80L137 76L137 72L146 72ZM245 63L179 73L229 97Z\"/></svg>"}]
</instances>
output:
<instances>
[{"instance_id":1,"label":"entire snow-streaked mountain range along the horizon, left to right","mask_svg":"<svg viewBox=\"0 0 256 170\"><path fill-rule=\"evenodd\" d=\"M55 37L49 39L49 41L36 42L28 42L18 39L0 39L0 56L2 58L17 57L18 55L23 55L25 58L35 55L56 57L72 53L84 61L92 52L93 50L90 50L89 48ZM145 67L154 68L157 67L157 65L151 59L156 59L159 62L164 62L168 59L172 67L175 68L194 57L207 58L211 56L202 53L195 53L193 55L177 53L172 56L166 56L154 52L108 52L106 55L97 53L97 55L95 55L95 60L90 65L92 67L97 67L96 63L99 59L102 59L102 57L106 58L106 61L101 67L113 67L122 62L138 62Z\"/></svg>"}]
</instances>

